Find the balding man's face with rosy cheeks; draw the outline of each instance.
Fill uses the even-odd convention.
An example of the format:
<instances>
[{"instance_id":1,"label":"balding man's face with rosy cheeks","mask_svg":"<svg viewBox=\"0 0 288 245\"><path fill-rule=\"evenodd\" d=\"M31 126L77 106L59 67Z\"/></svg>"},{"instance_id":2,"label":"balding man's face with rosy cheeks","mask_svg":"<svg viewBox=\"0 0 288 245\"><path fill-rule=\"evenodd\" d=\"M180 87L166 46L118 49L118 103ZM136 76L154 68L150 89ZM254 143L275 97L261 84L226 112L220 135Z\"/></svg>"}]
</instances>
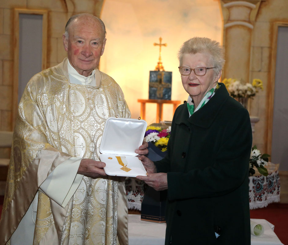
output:
<instances>
[{"instance_id":1,"label":"balding man's face with rosy cheeks","mask_svg":"<svg viewBox=\"0 0 288 245\"><path fill-rule=\"evenodd\" d=\"M70 64L80 75L89 76L98 66L106 43L105 34L99 21L82 16L69 26L69 37L63 35L65 51Z\"/></svg>"}]
</instances>

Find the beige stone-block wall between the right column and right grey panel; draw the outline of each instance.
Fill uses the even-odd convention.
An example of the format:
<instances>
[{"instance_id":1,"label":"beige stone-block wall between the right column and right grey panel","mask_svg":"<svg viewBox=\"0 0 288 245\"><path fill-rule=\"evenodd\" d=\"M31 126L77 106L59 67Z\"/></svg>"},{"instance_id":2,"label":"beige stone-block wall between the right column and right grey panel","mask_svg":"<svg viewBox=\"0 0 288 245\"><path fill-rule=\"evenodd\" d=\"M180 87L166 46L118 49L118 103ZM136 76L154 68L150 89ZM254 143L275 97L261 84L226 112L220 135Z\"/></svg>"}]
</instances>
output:
<instances>
[{"instance_id":1,"label":"beige stone-block wall between the right column and right grey panel","mask_svg":"<svg viewBox=\"0 0 288 245\"><path fill-rule=\"evenodd\" d=\"M260 91L251 101L249 111L251 115L260 117L260 121L255 126L255 143L269 154L271 154L271 141L269 139L267 141L266 130L272 131L272 125L267 125L267 116L269 106L271 108L273 101L269 101L268 98L271 96L270 93L274 92L271 90L270 83L274 83L274 78L271 77L271 72L275 67L275 60L272 59L272 47L274 46L274 36L277 35L277 33L273 33L273 25L276 21L288 23L287 13L288 1L286 0L261 2L252 32L250 78L262 79L264 91Z\"/></svg>"}]
</instances>

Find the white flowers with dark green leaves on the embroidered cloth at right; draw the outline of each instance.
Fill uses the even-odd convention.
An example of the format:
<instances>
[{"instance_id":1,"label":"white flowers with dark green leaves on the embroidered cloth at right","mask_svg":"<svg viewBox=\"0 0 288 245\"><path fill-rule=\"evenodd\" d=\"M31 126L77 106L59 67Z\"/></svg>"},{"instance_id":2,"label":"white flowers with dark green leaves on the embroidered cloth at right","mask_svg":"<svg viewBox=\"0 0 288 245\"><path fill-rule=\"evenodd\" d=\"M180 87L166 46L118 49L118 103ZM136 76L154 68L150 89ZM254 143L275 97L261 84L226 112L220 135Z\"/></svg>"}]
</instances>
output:
<instances>
[{"instance_id":1,"label":"white flowers with dark green leaves on the embroidered cloth at right","mask_svg":"<svg viewBox=\"0 0 288 245\"><path fill-rule=\"evenodd\" d=\"M267 176L268 171L267 171L267 168L265 168L264 166L268 164L269 156L270 155L268 154L261 155L260 150L257 149L256 145L254 145L250 154L249 175L255 174L255 170L253 169L253 167L255 166L258 169L260 174Z\"/></svg>"}]
</instances>

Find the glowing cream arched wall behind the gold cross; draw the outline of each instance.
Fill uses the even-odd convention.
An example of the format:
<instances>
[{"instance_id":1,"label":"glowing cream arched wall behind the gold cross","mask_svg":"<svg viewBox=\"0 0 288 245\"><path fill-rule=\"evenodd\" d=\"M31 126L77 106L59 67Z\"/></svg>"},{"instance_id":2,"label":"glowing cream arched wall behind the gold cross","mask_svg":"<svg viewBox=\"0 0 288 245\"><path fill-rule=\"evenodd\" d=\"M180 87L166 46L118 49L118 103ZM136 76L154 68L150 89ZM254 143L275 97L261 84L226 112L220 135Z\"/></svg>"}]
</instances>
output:
<instances>
[{"instance_id":1,"label":"glowing cream arched wall behind the gold cross","mask_svg":"<svg viewBox=\"0 0 288 245\"><path fill-rule=\"evenodd\" d=\"M181 0L184 2L184 0ZM107 42L100 70L122 88L132 118L140 116L138 99L149 97L149 71L159 59L159 37L167 43L161 49L165 71L172 72L171 100L188 99L178 70L177 52L193 36L222 43L222 13L215 0L105 0L101 19L106 25ZM114 17L111 20L111 16ZM173 18L171 18L173 16ZM117 20L117 21L114 21ZM213 23L213 24L211 24ZM146 104L148 125L156 122L156 103ZM173 105L163 105L163 120L172 121Z\"/></svg>"}]
</instances>

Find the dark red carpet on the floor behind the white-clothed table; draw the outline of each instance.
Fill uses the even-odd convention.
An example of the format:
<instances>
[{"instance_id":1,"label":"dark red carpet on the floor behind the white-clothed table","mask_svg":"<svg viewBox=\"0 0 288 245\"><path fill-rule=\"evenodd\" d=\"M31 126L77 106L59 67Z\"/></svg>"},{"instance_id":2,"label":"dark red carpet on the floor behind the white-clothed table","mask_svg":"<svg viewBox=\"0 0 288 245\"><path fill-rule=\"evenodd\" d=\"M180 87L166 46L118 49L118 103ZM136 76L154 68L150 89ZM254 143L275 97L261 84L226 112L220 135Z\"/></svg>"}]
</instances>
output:
<instances>
[{"instance_id":1,"label":"dark red carpet on the floor behind the white-clothed table","mask_svg":"<svg viewBox=\"0 0 288 245\"><path fill-rule=\"evenodd\" d=\"M4 197L0 196L0 217ZM288 204L271 203L266 208L250 210L250 218L265 219L275 225L274 232L284 245L288 245Z\"/></svg>"}]
</instances>

